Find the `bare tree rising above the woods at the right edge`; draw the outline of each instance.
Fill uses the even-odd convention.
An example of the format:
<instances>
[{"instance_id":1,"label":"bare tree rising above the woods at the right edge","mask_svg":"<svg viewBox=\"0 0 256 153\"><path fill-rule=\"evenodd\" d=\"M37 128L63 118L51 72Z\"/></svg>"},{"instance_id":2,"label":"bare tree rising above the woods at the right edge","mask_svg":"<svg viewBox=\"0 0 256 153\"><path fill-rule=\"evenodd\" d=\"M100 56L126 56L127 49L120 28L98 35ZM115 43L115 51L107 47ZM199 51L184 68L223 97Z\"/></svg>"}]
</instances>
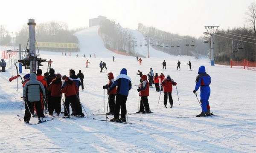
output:
<instances>
[{"instance_id":1,"label":"bare tree rising above the woods at the right edge","mask_svg":"<svg viewBox=\"0 0 256 153\"><path fill-rule=\"evenodd\" d=\"M254 35L256 36L256 3L251 3L248 7L246 23L249 28L252 28Z\"/></svg>"}]
</instances>

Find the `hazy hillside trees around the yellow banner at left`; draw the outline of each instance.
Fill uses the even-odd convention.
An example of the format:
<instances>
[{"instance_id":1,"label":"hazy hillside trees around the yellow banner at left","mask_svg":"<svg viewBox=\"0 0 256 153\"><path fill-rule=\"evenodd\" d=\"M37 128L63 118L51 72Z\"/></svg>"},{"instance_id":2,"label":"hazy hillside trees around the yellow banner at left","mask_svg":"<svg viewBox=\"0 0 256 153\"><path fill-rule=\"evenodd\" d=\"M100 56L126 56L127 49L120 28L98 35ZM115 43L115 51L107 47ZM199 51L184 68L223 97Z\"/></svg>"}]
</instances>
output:
<instances>
[{"instance_id":1,"label":"hazy hillside trees around the yellow banner at left","mask_svg":"<svg viewBox=\"0 0 256 153\"><path fill-rule=\"evenodd\" d=\"M67 23L47 22L40 23L35 26L35 38L37 42L69 42L79 44L79 40L74 33L77 30L68 30ZM19 32L16 33L16 44L23 47L27 45L29 40L29 27L24 25ZM47 51L80 51L80 48L39 48L39 50Z\"/></svg>"}]
</instances>

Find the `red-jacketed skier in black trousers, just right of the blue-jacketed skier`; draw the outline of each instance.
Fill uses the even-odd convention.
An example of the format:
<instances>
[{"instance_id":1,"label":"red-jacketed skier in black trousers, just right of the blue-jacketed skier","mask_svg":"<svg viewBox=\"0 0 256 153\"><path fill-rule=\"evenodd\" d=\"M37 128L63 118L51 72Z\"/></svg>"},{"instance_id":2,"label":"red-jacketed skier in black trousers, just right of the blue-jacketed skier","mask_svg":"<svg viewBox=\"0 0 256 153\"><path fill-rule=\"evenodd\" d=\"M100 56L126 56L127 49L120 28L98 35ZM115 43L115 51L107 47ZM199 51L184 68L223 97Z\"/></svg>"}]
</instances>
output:
<instances>
[{"instance_id":1,"label":"red-jacketed skier in black trousers, just right of the blue-jacketed skier","mask_svg":"<svg viewBox=\"0 0 256 153\"><path fill-rule=\"evenodd\" d=\"M140 111L136 113L151 113L149 104L148 104L148 96L149 96L149 83L147 80L147 76L143 75L142 77L142 83L140 84L140 87L138 87L137 91L140 92ZM144 111L145 109L145 111Z\"/></svg>"}]
</instances>

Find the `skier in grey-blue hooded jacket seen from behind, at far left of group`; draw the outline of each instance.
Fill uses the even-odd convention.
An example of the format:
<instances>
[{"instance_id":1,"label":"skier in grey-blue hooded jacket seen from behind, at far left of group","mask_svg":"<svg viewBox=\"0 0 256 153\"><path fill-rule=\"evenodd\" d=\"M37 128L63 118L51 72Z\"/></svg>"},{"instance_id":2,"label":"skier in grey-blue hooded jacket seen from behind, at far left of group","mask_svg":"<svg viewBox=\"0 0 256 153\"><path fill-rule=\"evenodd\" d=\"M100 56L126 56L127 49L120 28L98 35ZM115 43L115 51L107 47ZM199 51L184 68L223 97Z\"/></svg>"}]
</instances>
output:
<instances>
[{"instance_id":1,"label":"skier in grey-blue hooded jacket seen from behind, at far left of group","mask_svg":"<svg viewBox=\"0 0 256 153\"><path fill-rule=\"evenodd\" d=\"M23 100L25 101L24 122L29 123L31 112L35 105L38 113L38 122L44 122L44 112L41 107L41 95L45 98L44 86L40 81L37 81L36 74L30 74L30 80L26 82L23 88Z\"/></svg>"}]
</instances>

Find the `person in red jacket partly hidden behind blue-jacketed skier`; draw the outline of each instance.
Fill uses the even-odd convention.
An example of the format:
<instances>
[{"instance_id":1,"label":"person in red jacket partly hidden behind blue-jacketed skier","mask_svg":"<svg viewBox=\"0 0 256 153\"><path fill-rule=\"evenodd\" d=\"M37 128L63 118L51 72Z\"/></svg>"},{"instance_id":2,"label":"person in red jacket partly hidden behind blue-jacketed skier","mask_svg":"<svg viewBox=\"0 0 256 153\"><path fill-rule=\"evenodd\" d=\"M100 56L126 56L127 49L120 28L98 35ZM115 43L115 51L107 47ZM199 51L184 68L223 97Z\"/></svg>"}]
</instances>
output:
<instances>
[{"instance_id":1,"label":"person in red jacket partly hidden behind blue-jacketed skier","mask_svg":"<svg viewBox=\"0 0 256 153\"><path fill-rule=\"evenodd\" d=\"M103 86L103 89L109 89L110 86L115 81L113 73L108 73L108 84ZM116 97L116 87L113 88L110 92L108 92L108 104L109 104L109 112L106 114L114 114L115 113L115 97Z\"/></svg>"}]
</instances>

